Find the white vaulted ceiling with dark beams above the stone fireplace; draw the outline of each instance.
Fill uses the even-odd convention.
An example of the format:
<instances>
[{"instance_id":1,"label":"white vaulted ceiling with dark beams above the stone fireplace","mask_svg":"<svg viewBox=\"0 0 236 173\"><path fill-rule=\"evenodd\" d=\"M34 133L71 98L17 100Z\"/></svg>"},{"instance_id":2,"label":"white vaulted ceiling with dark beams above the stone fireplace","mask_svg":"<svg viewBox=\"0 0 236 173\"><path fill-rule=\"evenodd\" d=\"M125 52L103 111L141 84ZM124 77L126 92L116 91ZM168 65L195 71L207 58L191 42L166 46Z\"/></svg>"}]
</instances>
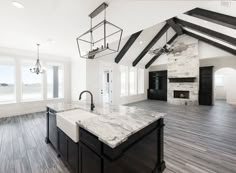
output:
<instances>
[{"instance_id":1,"label":"white vaulted ceiling with dark beams above the stone fireplace","mask_svg":"<svg viewBox=\"0 0 236 173\"><path fill-rule=\"evenodd\" d=\"M231 2L228 7L222 6L219 1L210 4L205 4L203 8L194 8L144 30L133 43L134 45L123 55L121 63L150 67L159 57L165 56L161 52L155 56L150 55L148 51L165 45L163 33L166 32L168 32L170 43L183 33L235 56L236 11L234 9L236 9L236 2ZM160 37L155 39L160 33ZM143 39L145 39L145 44L143 44ZM142 45L139 45L140 42Z\"/></svg>"}]
</instances>

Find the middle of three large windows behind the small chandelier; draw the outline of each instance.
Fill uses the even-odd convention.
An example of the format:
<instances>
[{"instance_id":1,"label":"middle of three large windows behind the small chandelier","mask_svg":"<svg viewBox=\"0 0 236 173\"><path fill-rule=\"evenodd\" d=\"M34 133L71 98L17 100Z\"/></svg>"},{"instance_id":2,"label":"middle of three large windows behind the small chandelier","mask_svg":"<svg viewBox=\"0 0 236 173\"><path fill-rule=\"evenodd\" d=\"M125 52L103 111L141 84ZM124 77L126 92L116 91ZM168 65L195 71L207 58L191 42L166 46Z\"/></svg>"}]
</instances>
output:
<instances>
[{"instance_id":1,"label":"middle of three large windows behind the small chandelier","mask_svg":"<svg viewBox=\"0 0 236 173\"><path fill-rule=\"evenodd\" d=\"M43 98L42 75L30 72L30 68L34 65L34 63L24 63L21 67L23 101L41 100Z\"/></svg>"}]
</instances>

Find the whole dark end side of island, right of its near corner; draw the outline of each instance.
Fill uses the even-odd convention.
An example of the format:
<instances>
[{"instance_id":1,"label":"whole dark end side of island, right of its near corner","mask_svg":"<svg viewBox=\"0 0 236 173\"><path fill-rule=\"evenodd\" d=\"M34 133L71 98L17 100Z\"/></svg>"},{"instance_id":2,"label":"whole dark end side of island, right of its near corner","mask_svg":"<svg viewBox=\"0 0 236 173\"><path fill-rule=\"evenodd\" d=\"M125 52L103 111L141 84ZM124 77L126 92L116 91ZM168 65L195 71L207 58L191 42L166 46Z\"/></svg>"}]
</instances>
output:
<instances>
[{"instance_id":1,"label":"whole dark end side of island, right of its near corner","mask_svg":"<svg viewBox=\"0 0 236 173\"><path fill-rule=\"evenodd\" d=\"M104 146L103 173L162 173L165 168L162 138L163 119L160 119L118 148Z\"/></svg>"}]
</instances>

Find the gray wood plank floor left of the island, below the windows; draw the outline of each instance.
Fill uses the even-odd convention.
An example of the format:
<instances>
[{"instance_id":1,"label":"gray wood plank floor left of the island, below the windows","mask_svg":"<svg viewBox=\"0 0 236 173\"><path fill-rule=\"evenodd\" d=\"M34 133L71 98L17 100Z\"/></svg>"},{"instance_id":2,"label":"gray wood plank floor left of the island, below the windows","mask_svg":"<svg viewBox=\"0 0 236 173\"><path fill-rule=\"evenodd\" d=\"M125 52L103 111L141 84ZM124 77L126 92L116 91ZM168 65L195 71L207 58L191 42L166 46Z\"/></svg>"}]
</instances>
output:
<instances>
[{"instance_id":1,"label":"gray wood plank floor left of the island, below the windows","mask_svg":"<svg viewBox=\"0 0 236 173\"><path fill-rule=\"evenodd\" d=\"M0 173L69 173L45 141L45 113L0 119Z\"/></svg>"}]
</instances>

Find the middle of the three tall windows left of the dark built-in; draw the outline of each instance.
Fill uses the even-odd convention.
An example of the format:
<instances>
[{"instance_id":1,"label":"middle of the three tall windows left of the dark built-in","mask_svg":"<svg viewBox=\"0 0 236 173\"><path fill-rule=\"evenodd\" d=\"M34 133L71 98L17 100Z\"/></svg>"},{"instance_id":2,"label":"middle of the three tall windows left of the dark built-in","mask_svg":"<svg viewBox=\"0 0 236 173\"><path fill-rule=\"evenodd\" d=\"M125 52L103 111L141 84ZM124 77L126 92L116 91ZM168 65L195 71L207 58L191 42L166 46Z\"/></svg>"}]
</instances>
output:
<instances>
[{"instance_id":1,"label":"middle of the three tall windows left of the dark built-in","mask_svg":"<svg viewBox=\"0 0 236 173\"><path fill-rule=\"evenodd\" d=\"M137 69L133 67L129 70L129 94L137 94Z\"/></svg>"}]
</instances>

